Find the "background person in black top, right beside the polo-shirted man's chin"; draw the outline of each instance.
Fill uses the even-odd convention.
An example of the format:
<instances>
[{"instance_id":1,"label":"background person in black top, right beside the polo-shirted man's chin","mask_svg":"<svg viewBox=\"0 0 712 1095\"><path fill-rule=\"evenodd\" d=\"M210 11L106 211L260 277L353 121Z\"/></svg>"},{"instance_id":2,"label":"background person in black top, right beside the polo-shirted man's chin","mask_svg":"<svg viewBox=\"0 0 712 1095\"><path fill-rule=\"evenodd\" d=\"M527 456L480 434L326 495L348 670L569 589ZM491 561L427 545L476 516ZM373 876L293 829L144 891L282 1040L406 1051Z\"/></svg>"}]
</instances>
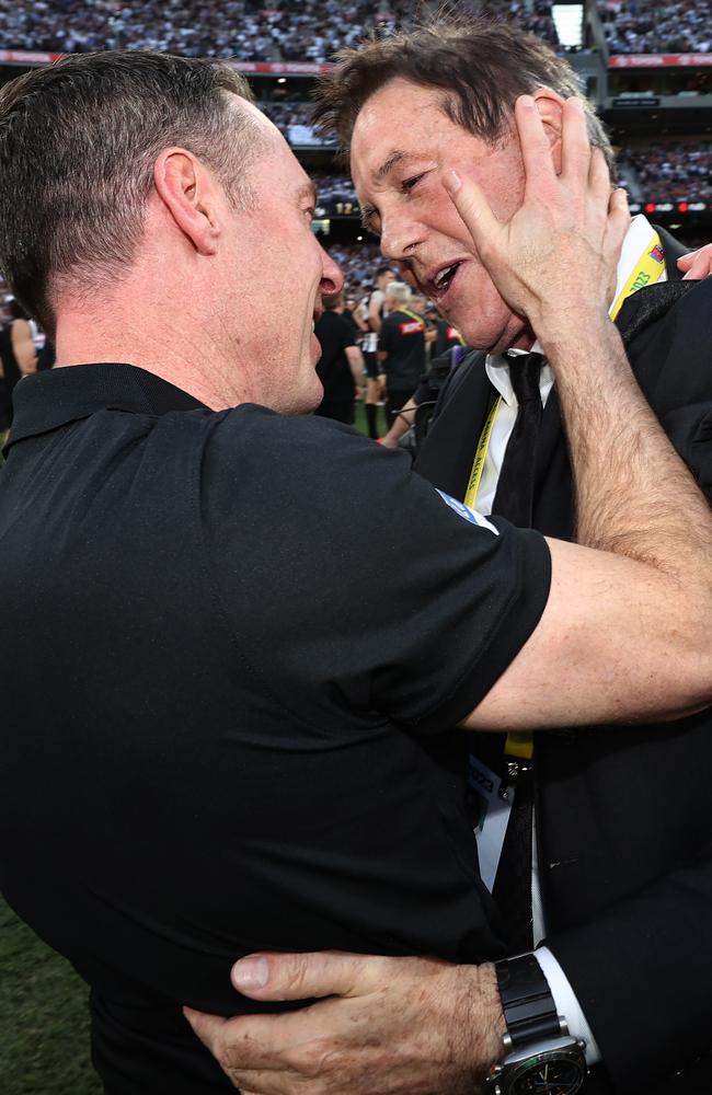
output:
<instances>
[{"instance_id":1,"label":"background person in black top, right beside the polo-shirted man's chin","mask_svg":"<svg viewBox=\"0 0 712 1095\"><path fill-rule=\"evenodd\" d=\"M347 425L354 423L354 396L364 383L364 356L356 345L354 325L344 315L343 292L322 297L323 314L314 324L321 346L317 374L324 395L314 414Z\"/></svg>"}]
</instances>

